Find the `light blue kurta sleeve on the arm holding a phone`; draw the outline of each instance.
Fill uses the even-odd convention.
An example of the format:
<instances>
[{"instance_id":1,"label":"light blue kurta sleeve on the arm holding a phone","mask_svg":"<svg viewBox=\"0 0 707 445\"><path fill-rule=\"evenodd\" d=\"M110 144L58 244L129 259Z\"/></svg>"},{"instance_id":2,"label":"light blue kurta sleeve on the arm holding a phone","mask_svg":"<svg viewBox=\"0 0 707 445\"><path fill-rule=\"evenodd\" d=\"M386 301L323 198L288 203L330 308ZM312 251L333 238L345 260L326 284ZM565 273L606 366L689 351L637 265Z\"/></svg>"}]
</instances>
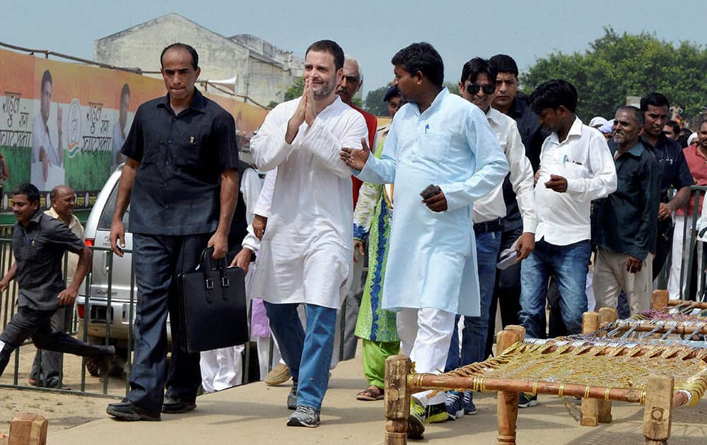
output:
<instances>
[{"instance_id":1,"label":"light blue kurta sleeve on the arm holding a phone","mask_svg":"<svg viewBox=\"0 0 707 445\"><path fill-rule=\"evenodd\" d=\"M501 184L508 174L506 155L498 145L486 115L478 108L471 109L463 124L467 143L476 158L477 171L464 182L439 184L447 198L447 210L474 203Z\"/></svg>"}]
</instances>

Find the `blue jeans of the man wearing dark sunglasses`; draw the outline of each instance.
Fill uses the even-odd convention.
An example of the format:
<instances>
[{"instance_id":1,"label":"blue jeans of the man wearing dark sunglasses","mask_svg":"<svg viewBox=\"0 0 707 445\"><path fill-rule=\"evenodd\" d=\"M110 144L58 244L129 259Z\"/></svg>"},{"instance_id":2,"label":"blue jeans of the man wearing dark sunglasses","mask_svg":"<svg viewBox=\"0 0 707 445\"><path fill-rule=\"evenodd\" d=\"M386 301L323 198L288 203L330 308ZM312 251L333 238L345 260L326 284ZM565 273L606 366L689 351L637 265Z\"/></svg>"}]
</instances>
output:
<instances>
[{"instance_id":1,"label":"blue jeans of the man wearing dark sunglasses","mask_svg":"<svg viewBox=\"0 0 707 445\"><path fill-rule=\"evenodd\" d=\"M496 284L496 261L498 261L498 250L501 249L501 232L477 233L476 239L481 316L464 316L461 359L456 328L460 316L455 317L455 329L452 332L445 372L465 364L483 362L486 359L484 352L486 337L489 335L489 309L493 297L493 287Z\"/></svg>"}]
</instances>

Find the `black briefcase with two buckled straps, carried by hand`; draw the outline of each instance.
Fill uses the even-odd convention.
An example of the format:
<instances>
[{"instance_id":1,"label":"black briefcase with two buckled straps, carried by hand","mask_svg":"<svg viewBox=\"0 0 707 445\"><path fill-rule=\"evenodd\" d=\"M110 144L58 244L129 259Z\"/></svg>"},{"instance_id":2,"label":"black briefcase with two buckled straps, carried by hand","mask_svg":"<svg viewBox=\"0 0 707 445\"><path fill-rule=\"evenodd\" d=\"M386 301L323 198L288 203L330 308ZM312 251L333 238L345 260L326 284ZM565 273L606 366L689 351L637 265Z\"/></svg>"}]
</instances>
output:
<instances>
[{"instance_id":1,"label":"black briefcase with two buckled straps, carried by hand","mask_svg":"<svg viewBox=\"0 0 707 445\"><path fill-rule=\"evenodd\" d=\"M245 273L211 259L213 248L201 252L196 271L177 278L180 304L180 348L187 352L247 343L248 320Z\"/></svg>"}]
</instances>

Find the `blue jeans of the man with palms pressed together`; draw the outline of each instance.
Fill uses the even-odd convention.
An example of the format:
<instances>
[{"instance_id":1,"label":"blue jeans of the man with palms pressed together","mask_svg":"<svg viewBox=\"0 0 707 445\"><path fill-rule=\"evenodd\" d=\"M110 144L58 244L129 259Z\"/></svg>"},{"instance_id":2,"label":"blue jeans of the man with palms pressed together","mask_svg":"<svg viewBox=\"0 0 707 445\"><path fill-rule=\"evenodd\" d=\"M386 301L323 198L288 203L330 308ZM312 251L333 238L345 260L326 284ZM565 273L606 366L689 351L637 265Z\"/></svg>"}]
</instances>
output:
<instances>
[{"instance_id":1,"label":"blue jeans of the man with palms pressed together","mask_svg":"<svg viewBox=\"0 0 707 445\"><path fill-rule=\"evenodd\" d=\"M298 304L265 302L283 360L297 383L297 405L322 409L329 386L329 364L334 352L337 309L305 304L307 331L297 314Z\"/></svg>"}]
</instances>

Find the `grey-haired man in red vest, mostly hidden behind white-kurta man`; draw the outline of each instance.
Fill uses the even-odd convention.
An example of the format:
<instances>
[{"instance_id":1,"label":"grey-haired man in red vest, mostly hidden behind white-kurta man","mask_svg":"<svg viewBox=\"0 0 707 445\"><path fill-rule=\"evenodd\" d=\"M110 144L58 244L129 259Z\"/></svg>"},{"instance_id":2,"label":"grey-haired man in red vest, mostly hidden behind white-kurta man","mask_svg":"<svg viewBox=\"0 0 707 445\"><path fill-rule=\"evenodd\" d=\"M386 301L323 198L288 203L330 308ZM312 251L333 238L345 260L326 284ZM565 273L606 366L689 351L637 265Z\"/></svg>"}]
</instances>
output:
<instances>
[{"instance_id":1,"label":"grey-haired man in red vest, mostly hidden behind white-kurta man","mask_svg":"<svg viewBox=\"0 0 707 445\"><path fill-rule=\"evenodd\" d=\"M354 95L363 86L363 74L361 74L361 66L354 57L344 55L344 75L341 76L341 83L337 88L337 94L341 97L341 101L349 107L361 113L363 119L366 119L366 128L368 129L368 146L375 147L376 128L378 128L378 119L373 114L363 111L363 109L354 105ZM361 189L361 179L351 176L354 182L354 208L358 201L358 193ZM361 307L361 297L363 296L363 283L365 274L363 272L363 256L358 258L354 251L354 275L349 289L349 295L346 295L344 307L344 360L351 360L356 355L356 343L358 340L354 335L356 328L356 319L358 319L358 308ZM338 324L337 324L338 325ZM338 358L338 357L336 357ZM338 360L336 360L338 362Z\"/></svg>"}]
</instances>

